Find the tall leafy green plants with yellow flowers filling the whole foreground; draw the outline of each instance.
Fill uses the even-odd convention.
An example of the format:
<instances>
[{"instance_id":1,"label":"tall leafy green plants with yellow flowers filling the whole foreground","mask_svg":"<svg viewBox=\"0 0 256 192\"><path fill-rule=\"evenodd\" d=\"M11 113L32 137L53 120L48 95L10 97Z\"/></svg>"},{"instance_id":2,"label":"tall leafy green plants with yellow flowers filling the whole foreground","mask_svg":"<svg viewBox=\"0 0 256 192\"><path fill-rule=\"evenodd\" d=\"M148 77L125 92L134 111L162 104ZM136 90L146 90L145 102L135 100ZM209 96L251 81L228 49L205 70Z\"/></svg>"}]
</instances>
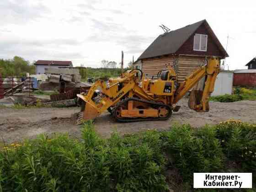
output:
<instances>
[{"instance_id":1,"label":"tall leafy green plants with yellow flowers filling the whole foreground","mask_svg":"<svg viewBox=\"0 0 256 192\"><path fill-rule=\"evenodd\" d=\"M89 121L81 133L81 141L68 134L40 135L5 146L0 192L167 192L169 186L190 191L193 172L256 171L256 125L240 121L124 137L114 132L109 139L100 138ZM166 171L176 175L166 177ZM251 192L255 181L253 176Z\"/></svg>"}]
</instances>

